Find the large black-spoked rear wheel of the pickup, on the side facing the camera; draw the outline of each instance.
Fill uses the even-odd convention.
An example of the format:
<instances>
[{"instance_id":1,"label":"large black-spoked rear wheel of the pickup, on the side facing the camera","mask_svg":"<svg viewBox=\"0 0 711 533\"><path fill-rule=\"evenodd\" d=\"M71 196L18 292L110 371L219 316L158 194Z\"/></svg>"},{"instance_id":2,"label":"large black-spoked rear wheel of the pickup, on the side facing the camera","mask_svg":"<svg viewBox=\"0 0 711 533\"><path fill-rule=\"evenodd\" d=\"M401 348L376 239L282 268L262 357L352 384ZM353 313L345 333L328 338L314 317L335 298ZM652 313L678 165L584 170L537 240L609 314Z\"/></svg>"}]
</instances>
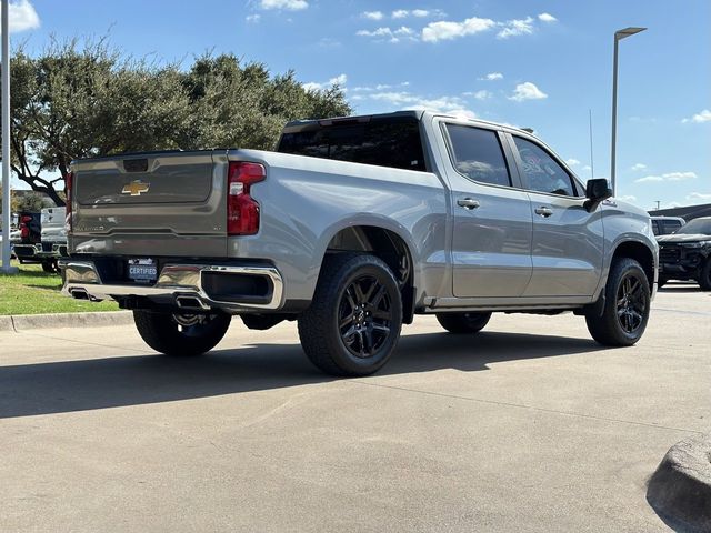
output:
<instances>
[{"instance_id":1,"label":"large black-spoked rear wheel of the pickup, on the side facing the camera","mask_svg":"<svg viewBox=\"0 0 711 533\"><path fill-rule=\"evenodd\" d=\"M328 257L313 300L298 320L309 360L331 375L369 375L394 351L402 326L402 301L394 275L379 258Z\"/></svg>"}]
</instances>

